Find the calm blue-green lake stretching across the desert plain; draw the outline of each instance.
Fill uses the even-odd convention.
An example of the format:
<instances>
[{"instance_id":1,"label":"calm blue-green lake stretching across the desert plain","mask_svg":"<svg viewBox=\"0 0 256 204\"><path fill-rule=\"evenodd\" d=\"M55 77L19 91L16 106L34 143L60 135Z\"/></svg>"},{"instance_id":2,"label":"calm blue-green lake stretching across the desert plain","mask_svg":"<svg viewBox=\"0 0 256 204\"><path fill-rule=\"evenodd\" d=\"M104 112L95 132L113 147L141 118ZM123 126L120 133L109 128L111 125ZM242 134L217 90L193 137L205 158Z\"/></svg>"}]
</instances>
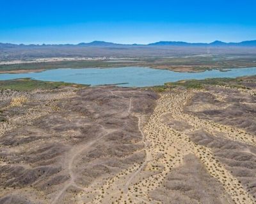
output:
<instances>
[{"instance_id":1,"label":"calm blue-green lake stretching across the desert plain","mask_svg":"<svg viewBox=\"0 0 256 204\"><path fill-rule=\"evenodd\" d=\"M122 87L148 87L188 79L216 77L242 77L256 75L256 68L236 68L226 71L211 70L200 73L174 72L165 69L141 67L50 69L37 73L0 74L0 80L33 78L35 80L70 82L77 84L106 85L119 84Z\"/></svg>"}]
</instances>

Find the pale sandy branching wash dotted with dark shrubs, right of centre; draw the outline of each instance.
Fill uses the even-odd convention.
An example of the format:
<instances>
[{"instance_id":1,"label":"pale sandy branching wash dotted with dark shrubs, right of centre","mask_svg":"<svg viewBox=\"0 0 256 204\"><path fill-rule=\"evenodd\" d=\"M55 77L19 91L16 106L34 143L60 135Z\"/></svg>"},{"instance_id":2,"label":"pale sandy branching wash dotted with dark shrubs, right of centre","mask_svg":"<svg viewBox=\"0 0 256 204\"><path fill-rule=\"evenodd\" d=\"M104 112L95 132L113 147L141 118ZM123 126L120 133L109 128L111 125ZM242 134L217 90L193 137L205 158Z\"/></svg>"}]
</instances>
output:
<instances>
[{"instance_id":1,"label":"pale sandy branching wash dotted with dark shrubs, right of centre","mask_svg":"<svg viewBox=\"0 0 256 204\"><path fill-rule=\"evenodd\" d=\"M144 203L157 203L158 201L152 200L148 194L162 184L166 175L173 168L182 165L183 158L187 154L193 154L200 159L209 174L223 185L223 188L235 203L254 203L252 196L239 184L239 180L223 164L215 159L211 149L191 142L186 133L177 131L164 124L163 117L168 113L175 119L182 119L189 122L193 130L202 128L205 122L205 127L208 129L213 130L216 126L223 127L221 124L200 120L183 112L183 106L193 94L194 92L177 91L175 93L161 95L161 98L157 101L154 113L150 116L144 129L140 129L142 131L143 141L145 142L145 135L147 135L147 141L150 143L150 145L145 145L145 162L141 164L138 170L129 174L129 179L124 186L127 196L120 200L120 203L127 200L127 198L132 199L134 202L138 201L138 203L141 203L142 200ZM138 119L140 124L140 117ZM227 127L227 129L230 128ZM232 128L232 130L241 131L236 128ZM228 131L224 132L228 134ZM236 138L236 134L228 134L227 138L232 138L236 141L239 140L239 142L251 143L250 134L244 131L242 132L246 136L246 140L239 140L239 138ZM151 158L148 159L148 156ZM147 173L151 175L143 179L143 176L147 175Z\"/></svg>"}]
</instances>

